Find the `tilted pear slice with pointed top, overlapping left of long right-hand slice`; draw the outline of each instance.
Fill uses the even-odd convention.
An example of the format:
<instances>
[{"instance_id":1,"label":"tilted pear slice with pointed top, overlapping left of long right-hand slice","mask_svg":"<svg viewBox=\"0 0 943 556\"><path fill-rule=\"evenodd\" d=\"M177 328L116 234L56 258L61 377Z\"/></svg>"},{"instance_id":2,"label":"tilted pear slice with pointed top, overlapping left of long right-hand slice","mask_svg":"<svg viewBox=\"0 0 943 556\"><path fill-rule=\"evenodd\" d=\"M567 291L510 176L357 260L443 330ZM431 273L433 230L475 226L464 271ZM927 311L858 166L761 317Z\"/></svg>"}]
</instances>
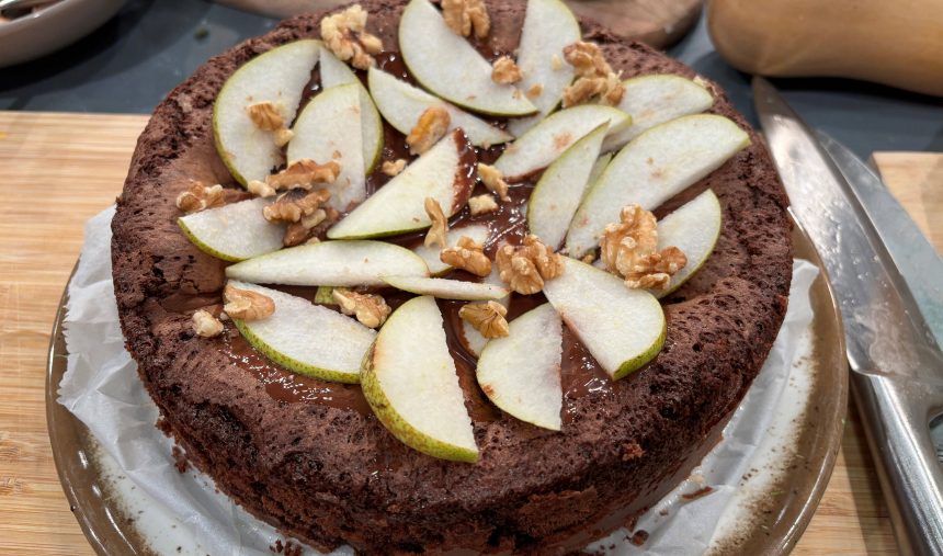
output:
<instances>
[{"instance_id":1,"label":"tilted pear slice with pointed top, overlapping left of long right-hand slice","mask_svg":"<svg viewBox=\"0 0 943 556\"><path fill-rule=\"evenodd\" d=\"M609 124L600 124L547 167L527 204L527 227L557 249L590 185Z\"/></svg>"}]
</instances>

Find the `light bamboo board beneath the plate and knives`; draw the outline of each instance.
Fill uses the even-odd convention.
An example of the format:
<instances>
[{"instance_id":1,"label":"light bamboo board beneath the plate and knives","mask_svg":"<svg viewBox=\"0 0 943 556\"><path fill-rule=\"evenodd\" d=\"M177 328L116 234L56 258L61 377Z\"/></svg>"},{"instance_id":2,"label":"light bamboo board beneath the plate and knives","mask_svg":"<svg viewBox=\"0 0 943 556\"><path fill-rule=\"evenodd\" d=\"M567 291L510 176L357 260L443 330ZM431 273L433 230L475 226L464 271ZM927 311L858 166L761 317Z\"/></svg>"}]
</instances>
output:
<instances>
[{"instance_id":1,"label":"light bamboo board beneath the plate and knives","mask_svg":"<svg viewBox=\"0 0 943 556\"><path fill-rule=\"evenodd\" d=\"M145 116L0 112L0 554L88 555L46 434L49 330L82 226L121 192ZM943 155L876 156L943 247ZM932 203L924 205L924 203ZM923 215L923 216L921 216ZM920 220L923 218L923 220ZM896 554L855 410L828 490L795 554Z\"/></svg>"}]
</instances>

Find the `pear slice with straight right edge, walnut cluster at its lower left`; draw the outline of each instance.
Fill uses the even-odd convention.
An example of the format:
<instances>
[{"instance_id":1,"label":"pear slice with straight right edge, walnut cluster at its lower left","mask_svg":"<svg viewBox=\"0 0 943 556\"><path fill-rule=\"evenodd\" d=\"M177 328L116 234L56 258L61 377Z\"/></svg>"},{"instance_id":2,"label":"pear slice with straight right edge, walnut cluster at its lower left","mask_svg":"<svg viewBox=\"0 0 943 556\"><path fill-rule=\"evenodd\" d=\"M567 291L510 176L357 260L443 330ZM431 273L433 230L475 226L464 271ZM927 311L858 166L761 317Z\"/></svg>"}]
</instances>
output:
<instances>
[{"instance_id":1,"label":"pear slice with straight right edge, walnut cluster at its lower left","mask_svg":"<svg viewBox=\"0 0 943 556\"><path fill-rule=\"evenodd\" d=\"M288 163L309 158L340 164L337 180L323 186L331 192L328 204L341 212L366 198L361 89L360 83L340 84L311 98L298 114L288 143Z\"/></svg>"}]
</instances>

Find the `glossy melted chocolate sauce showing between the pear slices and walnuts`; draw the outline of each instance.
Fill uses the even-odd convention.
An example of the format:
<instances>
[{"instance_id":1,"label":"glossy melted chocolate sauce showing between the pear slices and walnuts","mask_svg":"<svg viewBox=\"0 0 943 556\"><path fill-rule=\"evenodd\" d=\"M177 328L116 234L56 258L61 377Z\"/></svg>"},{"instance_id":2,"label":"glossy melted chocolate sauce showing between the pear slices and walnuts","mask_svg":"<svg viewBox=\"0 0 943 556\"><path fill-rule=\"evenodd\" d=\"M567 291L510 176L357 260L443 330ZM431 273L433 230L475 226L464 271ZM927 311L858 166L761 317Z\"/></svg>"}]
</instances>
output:
<instances>
[{"instance_id":1,"label":"glossy melted chocolate sauce showing between the pear slices and walnuts","mask_svg":"<svg viewBox=\"0 0 943 556\"><path fill-rule=\"evenodd\" d=\"M402 59L398 53L385 52L377 56L377 66L396 76L414 83L409 75ZM361 80L365 80L365 72L357 71ZM365 84L365 83L364 83ZM307 101L320 90L320 77L317 69L313 71L311 79L306 87L306 92L303 98L303 106ZM299 110L300 112L300 110ZM493 125L503 127L505 121L492 120ZM383 161L393 161L400 158L411 160L414 157L409 155L409 149L406 145L406 137L390 126L386 121L384 125L384 147ZM456 132L453 135L456 146L461 151L461 168L455 175L456 188L467 188L470 183L474 184L476 162L493 162L503 151L503 146L498 145L488 149L475 148L468 144L464 134ZM390 177L379 171L379 166L367 177L367 194L373 194L390 180ZM509 195L510 202L502 202L499 209L492 213L471 216L467 205L455 216L450 219L450 229L458 229L463 226L471 224L485 224L490 228L490 240L485 246L485 252L493 259L495 252L502 243L520 245L527 234L525 206L531 191L534 188L534 182L539 178L532 177L531 181L514 184L511 186ZM487 190L479 185L474 186L471 195L487 193ZM465 205L465 198L459 198L457 202ZM425 231L408 234L391 238L384 238L386 241L401 245L407 248L417 247L425 236ZM464 271L452 271L444 277L453 280L480 281L481 279L474 276ZM316 287L298 287L298 286L280 286L271 285L270 287L287 292L292 295L297 295L306 299L314 299ZM386 302L394 309L412 297L412 294L398 292L394 290L383 290L379 292ZM207 298L202 298L207 299ZM201 299L201 300L202 300ZM208 305L193 300L192 303L181 304L181 310L192 310L197 308L197 305ZM475 367L477 359L469 353L462 343L462 320L458 318L458 309L468 302L454 302L439 299L439 307L442 309L442 316L445 322L445 334L448 343L448 351L455 362L455 368L458 374L458 382L462 390L465 394L465 402L471 420L475 422L490 422L501 417L501 412L497 409L481 393L475 378ZM218 304L219 297L215 296L213 303ZM511 295L511 303L508 308L508 320L520 316L527 310L546 303L543 294L522 296L518 294ZM185 307L185 309L184 309ZM327 306L336 308L333 306ZM346 409L356 411L363 416L371 416L372 411L366 402L366 399L361 392L360 385L341 384L318 378L292 373L275 363L272 363L268 358L257 352L235 329L227 324L226 332L223 334L223 351L234 361L239 367L252 373L264 385L265 392L272 398L284 404L318 404L322 406ZM513 372L509 368L508 372ZM560 365L560 378L564 388L564 421L570 421L573 400L583 396L606 396L612 393L612 384L609 376L602 371L599 363L590 355L589 351L577 339L576 334L564 325L563 334L563 361Z\"/></svg>"}]
</instances>

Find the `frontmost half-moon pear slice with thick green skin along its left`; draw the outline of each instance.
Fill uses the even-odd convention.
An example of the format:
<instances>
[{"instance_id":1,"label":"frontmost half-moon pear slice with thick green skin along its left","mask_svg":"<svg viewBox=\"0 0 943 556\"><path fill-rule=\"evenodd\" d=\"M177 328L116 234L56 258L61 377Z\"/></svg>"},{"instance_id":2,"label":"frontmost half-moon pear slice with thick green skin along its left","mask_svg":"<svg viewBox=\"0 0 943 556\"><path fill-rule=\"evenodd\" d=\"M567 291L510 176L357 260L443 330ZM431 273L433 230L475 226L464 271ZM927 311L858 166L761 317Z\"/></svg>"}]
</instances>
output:
<instances>
[{"instance_id":1,"label":"frontmost half-moon pear slice with thick green skin along its left","mask_svg":"<svg viewBox=\"0 0 943 556\"><path fill-rule=\"evenodd\" d=\"M404 444L443 459L478 459L434 298L413 297L389 316L364 358L361 383L377 419Z\"/></svg>"}]
</instances>

